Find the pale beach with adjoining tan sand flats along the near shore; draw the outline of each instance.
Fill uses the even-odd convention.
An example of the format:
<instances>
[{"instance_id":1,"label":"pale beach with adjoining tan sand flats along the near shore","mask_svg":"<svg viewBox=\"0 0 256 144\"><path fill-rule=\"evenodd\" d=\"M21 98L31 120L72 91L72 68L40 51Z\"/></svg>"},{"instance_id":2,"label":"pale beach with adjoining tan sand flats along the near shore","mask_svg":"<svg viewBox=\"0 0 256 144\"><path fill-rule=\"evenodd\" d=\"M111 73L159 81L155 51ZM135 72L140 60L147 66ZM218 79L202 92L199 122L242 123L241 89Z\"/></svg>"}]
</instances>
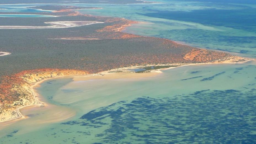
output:
<instances>
[{"instance_id":1,"label":"pale beach with adjoining tan sand flats along the near shore","mask_svg":"<svg viewBox=\"0 0 256 144\"><path fill-rule=\"evenodd\" d=\"M27 109L29 110L30 108L36 108L36 107L49 107L51 108L57 108L57 106L54 106L52 104L48 104L44 101L44 98L38 94L36 92L35 88L40 87L40 84L44 83L45 81L51 80L51 79L57 79L57 78L61 78L61 77L71 77L73 79L73 81L90 81L90 80L115 80L115 79L143 79L143 78L147 78L147 77L154 77L157 76L157 74L162 73L162 70L168 70L168 69L172 69L172 68L179 68L179 67L186 67L186 66L200 66L200 65L218 65L218 64L243 64L249 61L254 61L254 59L248 59L246 61L243 62L230 62L230 61L226 61L226 62L214 62L214 63L199 63L199 64L181 64L181 63L177 63L177 64L172 64L175 67L170 67L170 68L160 68L160 69L152 69L152 70L148 70L148 72L144 72L144 73L134 73L132 71L129 71L129 69L138 69L138 68L142 68L142 67L153 67L153 66L170 66L171 64L166 64L166 65L143 65L143 66L132 66L132 67L123 67L123 68L115 68L115 69L111 69L108 71L103 71L97 74L87 74L87 75L68 75L68 76L56 76L56 77L52 77L52 78L45 78L42 80L39 80L38 82L36 82L35 84L30 86L30 91L32 92L32 95L34 97L33 102L31 102L30 105L27 106L23 106L20 108L16 109L17 115L13 115L10 114L9 116L6 116L6 120L0 122L2 123L1 125L5 125L5 124L11 124L12 122L16 122L17 120L21 120L21 119L26 119L28 118L28 116L23 115L22 114L22 109ZM32 104L32 103L36 103L36 104ZM98 106L97 106L98 107ZM57 110L58 111L58 110ZM59 109L59 111L61 111L61 109ZM68 110L69 111L69 110ZM60 122L63 120L66 120L72 116L75 116L75 112L73 114L64 112L64 114L66 115L61 115L60 118L51 118L51 120L49 119L48 122L44 122L44 123L55 123L55 122ZM8 115L8 114L7 114Z\"/></svg>"}]
</instances>

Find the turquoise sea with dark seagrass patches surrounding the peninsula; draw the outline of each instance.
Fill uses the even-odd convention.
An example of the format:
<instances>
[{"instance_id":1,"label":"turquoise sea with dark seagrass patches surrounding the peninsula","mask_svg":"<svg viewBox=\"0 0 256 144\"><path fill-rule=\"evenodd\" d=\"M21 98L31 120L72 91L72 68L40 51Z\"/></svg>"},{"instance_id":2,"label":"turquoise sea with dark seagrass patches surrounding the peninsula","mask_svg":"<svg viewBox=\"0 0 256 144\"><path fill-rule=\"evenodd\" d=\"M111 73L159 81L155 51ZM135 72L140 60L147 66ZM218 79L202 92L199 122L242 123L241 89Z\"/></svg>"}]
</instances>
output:
<instances>
[{"instance_id":1,"label":"turquoise sea with dark seagrass patches surrounding the peninsula","mask_svg":"<svg viewBox=\"0 0 256 144\"><path fill-rule=\"evenodd\" d=\"M159 1L159 0L158 0ZM174 1L79 4L83 13L144 21L126 32L256 57L256 4ZM123 11L125 10L125 11ZM46 107L0 127L8 144L256 143L256 62L191 65L141 78L62 77L36 90ZM111 74L115 76L115 74Z\"/></svg>"}]
</instances>

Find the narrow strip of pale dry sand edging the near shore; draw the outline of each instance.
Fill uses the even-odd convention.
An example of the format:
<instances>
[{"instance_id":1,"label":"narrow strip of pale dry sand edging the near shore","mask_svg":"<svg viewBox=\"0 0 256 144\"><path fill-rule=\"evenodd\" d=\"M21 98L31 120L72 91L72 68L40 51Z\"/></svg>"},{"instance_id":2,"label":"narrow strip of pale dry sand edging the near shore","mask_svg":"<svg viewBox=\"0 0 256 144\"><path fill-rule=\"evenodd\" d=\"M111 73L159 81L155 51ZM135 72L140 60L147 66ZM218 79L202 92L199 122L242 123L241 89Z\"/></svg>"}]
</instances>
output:
<instances>
[{"instance_id":1,"label":"narrow strip of pale dry sand edging the near shore","mask_svg":"<svg viewBox=\"0 0 256 144\"><path fill-rule=\"evenodd\" d=\"M168 69L179 68L179 67L184 67L184 66L204 65L204 64L243 64L243 63L246 63L246 62L249 62L249 61L255 61L255 59L246 60L246 61L243 61L243 62L190 63L190 64L184 64L184 65L180 64L180 65L177 66L177 67L152 69L152 70L149 70L149 71L150 71L150 72L155 72L155 73L163 73L162 70L168 70ZM176 63L176 64L178 64L178 63ZM112 72L111 74L113 74L113 73L118 73L118 72L113 72L113 71L117 71L117 70L127 70L127 69L136 69L136 68L140 68L140 67L167 66L167 65L168 65L168 64L164 64L164 65L146 65L146 66L145 66L145 65L141 65L141 66L131 66L131 67L123 67L123 68L110 69L110 70L102 71L102 72L99 72L99 73L96 73L96 74L69 75L69 76L104 76L105 74L110 74L110 73L108 73L108 72ZM171 65L171 64L169 64L169 65ZM172 64L172 65L173 65L173 64ZM134 72L125 71L125 72L123 72L123 73L134 73ZM144 73L144 74L145 74L145 73ZM54 79L54 78L60 78L60 77L68 77L68 76L56 76L56 77L51 77L51 78L45 78L45 79L43 79L43 80L41 80L41 81L38 81L38 82L36 82L35 84L31 85L31 86L30 86L30 91L31 91L32 94L33 94L33 98L34 98L36 104L32 104L32 105L28 105L28 106L23 106L23 107L17 108L17 109L16 109L16 112L17 112L17 114L18 114L18 117L15 117L15 118L12 118L12 119L9 119L9 120L0 122L0 124L4 124L4 123L7 123L7 122L12 123L12 122L15 122L15 121L18 121L18 120L26 119L26 116L24 116L24 115L20 112L20 109L22 109L22 108L31 107L31 106L34 106L34 107L47 106L47 103L46 103L46 102L40 100L40 97L42 97L42 96L39 95L39 94L36 92L35 87L40 86L40 84L43 83L44 81L47 81L47 80L50 80L50 79Z\"/></svg>"}]
</instances>

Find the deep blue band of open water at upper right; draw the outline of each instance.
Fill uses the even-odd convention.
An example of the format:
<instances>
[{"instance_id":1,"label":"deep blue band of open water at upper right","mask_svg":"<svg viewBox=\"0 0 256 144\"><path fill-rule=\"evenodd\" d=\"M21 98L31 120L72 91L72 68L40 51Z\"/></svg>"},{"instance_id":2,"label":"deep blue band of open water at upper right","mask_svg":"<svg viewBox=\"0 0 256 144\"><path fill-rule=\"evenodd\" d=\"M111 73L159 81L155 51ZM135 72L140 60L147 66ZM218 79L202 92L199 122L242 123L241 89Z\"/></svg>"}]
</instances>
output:
<instances>
[{"instance_id":1,"label":"deep blue band of open water at upper right","mask_svg":"<svg viewBox=\"0 0 256 144\"><path fill-rule=\"evenodd\" d=\"M255 31L256 9L242 10L218 10L204 9L185 11L159 11L151 10L152 13L142 14L148 17L163 18L169 20L181 20L196 22L204 25L224 26L248 31ZM246 27L244 25L246 24Z\"/></svg>"}]
</instances>

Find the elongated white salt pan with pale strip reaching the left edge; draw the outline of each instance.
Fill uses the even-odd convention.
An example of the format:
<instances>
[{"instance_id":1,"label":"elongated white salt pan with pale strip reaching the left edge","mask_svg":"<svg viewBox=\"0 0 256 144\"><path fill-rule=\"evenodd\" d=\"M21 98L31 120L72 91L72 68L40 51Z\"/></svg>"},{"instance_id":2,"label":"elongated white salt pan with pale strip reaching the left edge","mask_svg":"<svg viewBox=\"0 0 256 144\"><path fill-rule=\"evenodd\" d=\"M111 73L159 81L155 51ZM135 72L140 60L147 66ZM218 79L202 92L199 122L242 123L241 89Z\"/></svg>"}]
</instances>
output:
<instances>
[{"instance_id":1,"label":"elongated white salt pan with pale strip reaching the left edge","mask_svg":"<svg viewBox=\"0 0 256 144\"><path fill-rule=\"evenodd\" d=\"M99 21L52 21L44 22L52 26L0 26L0 29L42 29L42 28L73 28L96 23L104 23Z\"/></svg>"}]
</instances>

